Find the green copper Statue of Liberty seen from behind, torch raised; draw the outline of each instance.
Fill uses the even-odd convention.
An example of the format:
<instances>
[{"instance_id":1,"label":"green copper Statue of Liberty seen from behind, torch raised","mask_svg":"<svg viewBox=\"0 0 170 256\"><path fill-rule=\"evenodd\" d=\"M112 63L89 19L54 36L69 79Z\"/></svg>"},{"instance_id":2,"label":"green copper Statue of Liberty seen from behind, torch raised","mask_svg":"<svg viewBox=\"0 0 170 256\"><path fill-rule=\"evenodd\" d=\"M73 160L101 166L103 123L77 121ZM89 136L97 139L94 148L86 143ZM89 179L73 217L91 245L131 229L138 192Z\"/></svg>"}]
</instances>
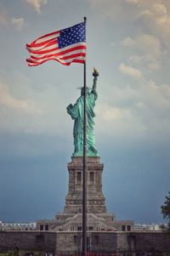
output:
<instances>
[{"instance_id":1,"label":"green copper Statue of Liberty seen from behind, torch raised","mask_svg":"<svg viewBox=\"0 0 170 256\"><path fill-rule=\"evenodd\" d=\"M94 69L94 84L93 88L86 88L86 113L87 113L87 156L98 156L98 151L95 148L94 138L94 105L95 100L98 98L96 91L97 79L99 76L98 71ZM81 88L81 96L77 99L75 105L68 105L66 110L71 118L75 121L73 128L74 136L74 153L73 156L82 156L83 154L83 97L84 88Z\"/></svg>"}]
</instances>

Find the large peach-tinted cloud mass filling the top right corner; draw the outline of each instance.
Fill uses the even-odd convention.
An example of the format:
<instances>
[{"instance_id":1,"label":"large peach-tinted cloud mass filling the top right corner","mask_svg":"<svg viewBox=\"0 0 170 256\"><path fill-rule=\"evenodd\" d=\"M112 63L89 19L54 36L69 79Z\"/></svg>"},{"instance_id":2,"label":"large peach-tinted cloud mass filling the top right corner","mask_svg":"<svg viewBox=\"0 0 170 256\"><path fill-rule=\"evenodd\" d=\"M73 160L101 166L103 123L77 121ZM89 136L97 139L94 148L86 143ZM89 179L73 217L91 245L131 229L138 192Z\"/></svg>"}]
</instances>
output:
<instances>
[{"instance_id":1,"label":"large peach-tinted cloud mass filling the top right corner","mask_svg":"<svg viewBox=\"0 0 170 256\"><path fill-rule=\"evenodd\" d=\"M161 38L170 48L170 3L166 0L88 0L95 11L106 19L138 22L140 31ZM121 26L121 25L120 25ZM133 31L136 32L136 31ZM138 31L139 32L139 31Z\"/></svg>"}]
</instances>

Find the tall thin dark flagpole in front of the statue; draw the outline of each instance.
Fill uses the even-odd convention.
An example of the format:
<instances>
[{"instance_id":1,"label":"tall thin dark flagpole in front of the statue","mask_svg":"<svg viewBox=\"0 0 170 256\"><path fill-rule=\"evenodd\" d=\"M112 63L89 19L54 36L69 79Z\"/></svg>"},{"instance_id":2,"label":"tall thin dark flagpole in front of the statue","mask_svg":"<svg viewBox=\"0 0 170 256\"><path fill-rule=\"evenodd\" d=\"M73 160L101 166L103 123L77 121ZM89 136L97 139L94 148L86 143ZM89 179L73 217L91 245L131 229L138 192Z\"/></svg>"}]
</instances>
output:
<instances>
[{"instance_id":1,"label":"tall thin dark flagpole in front of the statue","mask_svg":"<svg viewBox=\"0 0 170 256\"><path fill-rule=\"evenodd\" d=\"M84 17L86 28L87 18ZM82 179L82 256L87 253L87 131L86 131L86 60L84 62L84 102L83 102L83 179Z\"/></svg>"}]
</instances>

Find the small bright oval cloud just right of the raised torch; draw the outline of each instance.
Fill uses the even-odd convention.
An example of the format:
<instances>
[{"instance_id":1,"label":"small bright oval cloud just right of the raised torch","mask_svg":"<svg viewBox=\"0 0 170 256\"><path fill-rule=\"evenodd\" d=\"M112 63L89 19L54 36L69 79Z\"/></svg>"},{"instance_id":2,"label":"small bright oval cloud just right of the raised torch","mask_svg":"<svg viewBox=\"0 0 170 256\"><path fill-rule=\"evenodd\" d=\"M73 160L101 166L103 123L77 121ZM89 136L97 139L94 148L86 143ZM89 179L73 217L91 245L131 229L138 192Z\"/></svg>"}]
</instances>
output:
<instances>
[{"instance_id":1,"label":"small bright oval cloud just right of the raised torch","mask_svg":"<svg viewBox=\"0 0 170 256\"><path fill-rule=\"evenodd\" d=\"M134 78L137 78L137 79L144 78L141 71L139 71L136 68L133 68L132 66L125 65L124 63L121 63L119 65L119 71L121 71L123 74L125 74L129 77L134 77Z\"/></svg>"}]
</instances>

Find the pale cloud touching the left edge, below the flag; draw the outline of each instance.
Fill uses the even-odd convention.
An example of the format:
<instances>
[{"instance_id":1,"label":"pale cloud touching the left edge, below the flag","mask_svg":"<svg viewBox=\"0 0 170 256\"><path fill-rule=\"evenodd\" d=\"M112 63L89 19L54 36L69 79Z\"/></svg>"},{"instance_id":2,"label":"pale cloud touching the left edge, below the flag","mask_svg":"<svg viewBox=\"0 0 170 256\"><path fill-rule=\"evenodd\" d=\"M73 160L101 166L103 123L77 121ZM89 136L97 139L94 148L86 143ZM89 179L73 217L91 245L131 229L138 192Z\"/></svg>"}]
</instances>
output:
<instances>
[{"instance_id":1,"label":"pale cloud touching the left edge, below the flag","mask_svg":"<svg viewBox=\"0 0 170 256\"><path fill-rule=\"evenodd\" d=\"M42 111L34 108L32 102L28 102L28 100L18 100L14 98L13 95L11 95L8 91L7 85L3 84L3 82L0 82L0 105L14 110L24 111L26 113L38 115L42 114Z\"/></svg>"}]
</instances>

